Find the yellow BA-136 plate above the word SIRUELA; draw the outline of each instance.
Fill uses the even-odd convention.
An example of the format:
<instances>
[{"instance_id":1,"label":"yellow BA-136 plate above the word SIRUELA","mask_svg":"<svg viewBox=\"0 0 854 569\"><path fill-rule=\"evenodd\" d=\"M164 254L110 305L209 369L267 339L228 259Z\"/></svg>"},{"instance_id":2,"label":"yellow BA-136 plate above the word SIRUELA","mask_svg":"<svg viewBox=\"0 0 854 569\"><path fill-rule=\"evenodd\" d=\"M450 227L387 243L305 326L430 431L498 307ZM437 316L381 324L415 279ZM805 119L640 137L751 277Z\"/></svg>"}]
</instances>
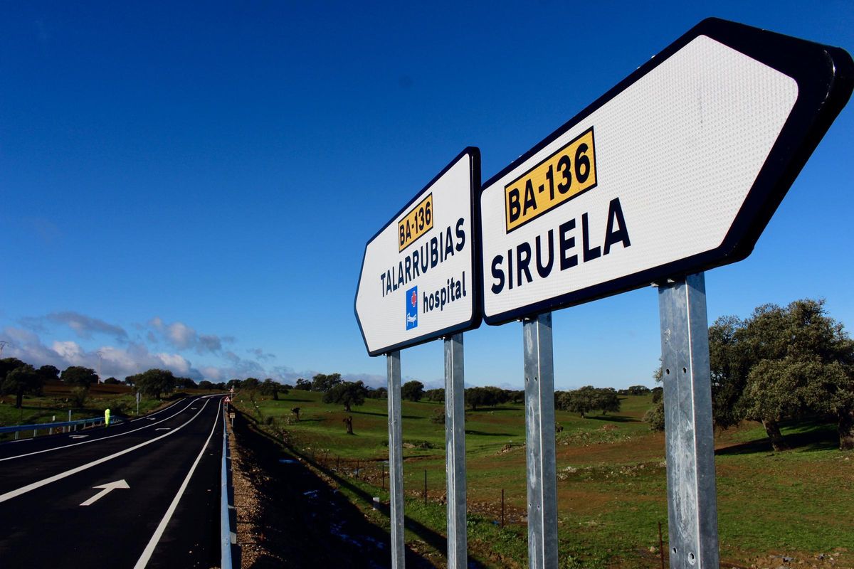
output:
<instances>
[{"instance_id":1,"label":"yellow BA-136 plate above the word SIRUELA","mask_svg":"<svg viewBox=\"0 0 854 569\"><path fill-rule=\"evenodd\" d=\"M504 187L507 233L596 187L593 127Z\"/></svg>"}]
</instances>

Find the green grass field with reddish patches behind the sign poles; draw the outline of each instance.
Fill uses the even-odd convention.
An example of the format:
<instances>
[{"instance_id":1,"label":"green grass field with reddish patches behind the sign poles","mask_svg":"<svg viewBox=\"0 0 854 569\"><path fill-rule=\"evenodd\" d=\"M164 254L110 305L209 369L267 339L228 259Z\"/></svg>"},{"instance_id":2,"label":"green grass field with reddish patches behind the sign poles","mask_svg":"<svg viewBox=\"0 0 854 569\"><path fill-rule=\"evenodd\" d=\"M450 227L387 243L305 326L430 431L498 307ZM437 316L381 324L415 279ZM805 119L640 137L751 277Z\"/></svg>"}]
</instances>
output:
<instances>
[{"instance_id":1,"label":"green grass field with reddish patches behind the sign poles","mask_svg":"<svg viewBox=\"0 0 854 569\"><path fill-rule=\"evenodd\" d=\"M320 393L291 391L279 401L238 394L237 405L286 433L291 449L332 472L358 467L360 496L381 496L388 458L386 401L367 400L352 413L323 404ZM560 559L564 567L657 567L658 522L667 541L664 435L641 420L649 397L625 397L617 414L558 411L556 435ZM300 419L290 409L300 407ZM430 421L442 404L402 404L407 528L444 533L444 425ZM343 419L353 416L354 434ZM466 412L470 554L485 566L527 566L524 407L504 404ZM805 566L854 567L854 455L836 448L833 425L784 428L796 445L772 452L756 423L717 437L718 518L722 566L781 566L787 555ZM358 461L358 462L356 462ZM424 472L428 504L424 506ZM500 519L506 496L506 527ZM346 489L342 489L346 491ZM367 493L367 494L366 494ZM366 511L367 503L361 504ZM418 531L407 543L430 549ZM837 553L838 552L838 553ZM432 555L441 565L444 552ZM817 558L825 554L824 560ZM833 554L833 556L829 555Z\"/></svg>"}]
</instances>

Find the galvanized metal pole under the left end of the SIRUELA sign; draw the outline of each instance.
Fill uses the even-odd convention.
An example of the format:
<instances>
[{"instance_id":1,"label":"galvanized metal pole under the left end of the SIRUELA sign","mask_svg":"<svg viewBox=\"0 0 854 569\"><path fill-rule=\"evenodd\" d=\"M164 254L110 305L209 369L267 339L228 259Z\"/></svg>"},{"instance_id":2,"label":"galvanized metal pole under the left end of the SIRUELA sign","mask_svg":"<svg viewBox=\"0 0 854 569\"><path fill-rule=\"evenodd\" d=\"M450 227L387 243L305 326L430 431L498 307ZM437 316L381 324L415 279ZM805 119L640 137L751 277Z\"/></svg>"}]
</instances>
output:
<instances>
[{"instance_id":1,"label":"galvanized metal pole under the left end of the SIRUELA sign","mask_svg":"<svg viewBox=\"0 0 854 569\"><path fill-rule=\"evenodd\" d=\"M522 329L528 448L528 566L552 569L558 566L552 313L525 318Z\"/></svg>"}]
</instances>

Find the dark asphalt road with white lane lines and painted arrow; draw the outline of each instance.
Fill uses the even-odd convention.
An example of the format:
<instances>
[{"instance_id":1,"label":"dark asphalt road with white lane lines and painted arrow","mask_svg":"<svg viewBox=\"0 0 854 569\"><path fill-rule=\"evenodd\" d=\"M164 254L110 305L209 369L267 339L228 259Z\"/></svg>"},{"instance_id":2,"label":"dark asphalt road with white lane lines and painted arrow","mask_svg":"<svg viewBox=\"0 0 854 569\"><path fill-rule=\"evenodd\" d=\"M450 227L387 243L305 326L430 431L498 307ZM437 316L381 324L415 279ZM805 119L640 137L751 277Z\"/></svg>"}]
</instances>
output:
<instances>
[{"instance_id":1,"label":"dark asphalt road with white lane lines and painted arrow","mask_svg":"<svg viewBox=\"0 0 854 569\"><path fill-rule=\"evenodd\" d=\"M0 566L219 566L223 421L222 397L186 398L0 444Z\"/></svg>"}]
</instances>

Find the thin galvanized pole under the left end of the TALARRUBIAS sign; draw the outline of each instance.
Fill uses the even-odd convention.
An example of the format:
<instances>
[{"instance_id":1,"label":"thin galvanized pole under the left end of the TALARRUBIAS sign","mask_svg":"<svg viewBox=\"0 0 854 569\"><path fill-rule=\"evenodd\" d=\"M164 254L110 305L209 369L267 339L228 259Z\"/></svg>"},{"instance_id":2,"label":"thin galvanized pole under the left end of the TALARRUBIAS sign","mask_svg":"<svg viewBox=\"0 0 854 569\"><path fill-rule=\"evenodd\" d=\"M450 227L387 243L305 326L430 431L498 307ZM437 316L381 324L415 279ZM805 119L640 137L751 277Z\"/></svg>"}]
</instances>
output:
<instances>
[{"instance_id":1,"label":"thin galvanized pole under the left end of the TALARRUBIAS sign","mask_svg":"<svg viewBox=\"0 0 854 569\"><path fill-rule=\"evenodd\" d=\"M401 429L401 351L386 357L389 376L389 500L391 502L391 566L403 569L403 433Z\"/></svg>"}]
</instances>

